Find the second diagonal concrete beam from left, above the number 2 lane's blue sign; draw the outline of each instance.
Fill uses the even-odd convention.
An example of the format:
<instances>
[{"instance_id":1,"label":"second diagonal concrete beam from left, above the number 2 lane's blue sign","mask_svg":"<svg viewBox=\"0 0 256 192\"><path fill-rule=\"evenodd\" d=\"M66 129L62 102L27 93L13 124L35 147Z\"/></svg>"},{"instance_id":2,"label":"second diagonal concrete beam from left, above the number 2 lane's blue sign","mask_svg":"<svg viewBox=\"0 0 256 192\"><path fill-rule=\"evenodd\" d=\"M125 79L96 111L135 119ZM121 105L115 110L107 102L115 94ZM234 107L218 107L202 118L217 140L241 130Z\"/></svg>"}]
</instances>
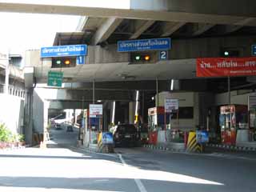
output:
<instances>
[{"instance_id":1,"label":"second diagonal concrete beam from left, above the number 2 lane's blue sign","mask_svg":"<svg viewBox=\"0 0 256 192\"><path fill-rule=\"evenodd\" d=\"M138 38L144 31L146 31L150 26L152 26L154 22L154 20L136 20L134 22L134 34L130 37L130 39Z\"/></svg>"}]
</instances>

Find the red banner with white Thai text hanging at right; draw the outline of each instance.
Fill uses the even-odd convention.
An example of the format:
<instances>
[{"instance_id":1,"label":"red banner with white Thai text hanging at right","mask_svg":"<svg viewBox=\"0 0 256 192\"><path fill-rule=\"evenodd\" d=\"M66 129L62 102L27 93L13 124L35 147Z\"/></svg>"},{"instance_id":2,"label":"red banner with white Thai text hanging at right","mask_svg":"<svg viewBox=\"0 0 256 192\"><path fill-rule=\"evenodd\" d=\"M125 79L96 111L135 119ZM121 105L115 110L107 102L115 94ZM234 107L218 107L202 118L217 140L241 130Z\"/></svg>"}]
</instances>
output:
<instances>
[{"instance_id":1,"label":"red banner with white Thai text hanging at right","mask_svg":"<svg viewBox=\"0 0 256 192\"><path fill-rule=\"evenodd\" d=\"M256 57L197 58L197 77L256 75Z\"/></svg>"}]
</instances>

